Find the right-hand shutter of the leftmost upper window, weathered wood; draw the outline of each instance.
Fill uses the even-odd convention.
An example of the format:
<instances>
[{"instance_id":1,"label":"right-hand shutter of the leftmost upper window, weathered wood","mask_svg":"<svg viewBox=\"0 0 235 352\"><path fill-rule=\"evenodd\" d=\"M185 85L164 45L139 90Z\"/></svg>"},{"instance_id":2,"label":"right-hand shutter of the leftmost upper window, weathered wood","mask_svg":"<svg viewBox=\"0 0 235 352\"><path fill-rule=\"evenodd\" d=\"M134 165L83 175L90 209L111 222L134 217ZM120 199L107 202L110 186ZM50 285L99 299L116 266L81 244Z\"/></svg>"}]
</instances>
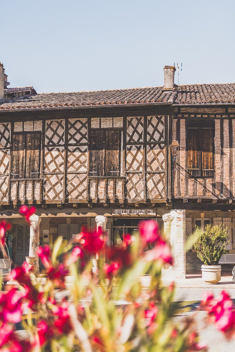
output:
<instances>
[{"instance_id":1,"label":"right-hand shutter of the leftmost upper window, weathered wood","mask_svg":"<svg viewBox=\"0 0 235 352\"><path fill-rule=\"evenodd\" d=\"M40 134L26 134L25 178L39 177Z\"/></svg>"}]
</instances>

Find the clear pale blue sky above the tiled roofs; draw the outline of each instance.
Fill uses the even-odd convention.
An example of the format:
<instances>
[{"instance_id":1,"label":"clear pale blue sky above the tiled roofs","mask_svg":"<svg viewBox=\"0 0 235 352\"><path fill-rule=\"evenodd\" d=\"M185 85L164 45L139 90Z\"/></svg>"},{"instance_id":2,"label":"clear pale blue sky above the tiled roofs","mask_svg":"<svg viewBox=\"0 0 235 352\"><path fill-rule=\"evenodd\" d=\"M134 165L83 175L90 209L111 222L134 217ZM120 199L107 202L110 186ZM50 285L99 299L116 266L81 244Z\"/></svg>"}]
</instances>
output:
<instances>
[{"instance_id":1,"label":"clear pale blue sky above the tiled roofs","mask_svg":"<svg viewBox=\"0 0 235 352\"><path fill-rule=\"evenodd\" d=\"M234 0L0 1L0 61L11 87L68 92L235 82ZM175 83L178 78L175 77Z\"/></svg>"}]
</instances>

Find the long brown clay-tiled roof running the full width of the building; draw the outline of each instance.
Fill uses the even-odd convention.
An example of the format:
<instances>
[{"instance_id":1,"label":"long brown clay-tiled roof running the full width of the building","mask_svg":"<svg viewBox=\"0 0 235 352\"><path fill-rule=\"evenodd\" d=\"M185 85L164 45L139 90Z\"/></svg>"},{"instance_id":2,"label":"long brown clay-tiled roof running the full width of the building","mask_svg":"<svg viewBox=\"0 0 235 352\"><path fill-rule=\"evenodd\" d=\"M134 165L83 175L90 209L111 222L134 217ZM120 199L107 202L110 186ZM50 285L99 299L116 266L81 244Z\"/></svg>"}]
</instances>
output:
<instances>
[{"instance_id":1,"label":"long brown clay-tiled roof running the full width of the building","mask_svg":"<svg viewBox=\"0 0 235 352\"><path fill-rule=\"evenodd\" d=\"M173 104L234 103L235 83L183 84L176 86L174 90L164 90L163 87L147 87L91 92L39 93L5 100L0 103L0 109L158 102Z\"/></svg>"}]
</instances>

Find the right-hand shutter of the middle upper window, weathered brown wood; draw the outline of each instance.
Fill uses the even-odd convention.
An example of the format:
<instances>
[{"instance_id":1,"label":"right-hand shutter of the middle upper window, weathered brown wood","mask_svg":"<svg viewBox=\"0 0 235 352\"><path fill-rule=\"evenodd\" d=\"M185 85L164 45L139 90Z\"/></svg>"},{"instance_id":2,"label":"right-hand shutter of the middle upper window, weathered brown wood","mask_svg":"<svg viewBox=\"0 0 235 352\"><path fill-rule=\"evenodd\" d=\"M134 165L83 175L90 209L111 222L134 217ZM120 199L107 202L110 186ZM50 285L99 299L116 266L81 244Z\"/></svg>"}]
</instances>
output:
<instances>
[{"instance_id":1,"label":"right-hand shutter of the middle upper window, weathered brown wood","mask_svg":"<svg viewBox=\"0 0 235 352\"><path fill-rule=\"evenodd\" d=\"M120 174L120 132L105 131L105 176Z\"/></svg>"}]
</instances>

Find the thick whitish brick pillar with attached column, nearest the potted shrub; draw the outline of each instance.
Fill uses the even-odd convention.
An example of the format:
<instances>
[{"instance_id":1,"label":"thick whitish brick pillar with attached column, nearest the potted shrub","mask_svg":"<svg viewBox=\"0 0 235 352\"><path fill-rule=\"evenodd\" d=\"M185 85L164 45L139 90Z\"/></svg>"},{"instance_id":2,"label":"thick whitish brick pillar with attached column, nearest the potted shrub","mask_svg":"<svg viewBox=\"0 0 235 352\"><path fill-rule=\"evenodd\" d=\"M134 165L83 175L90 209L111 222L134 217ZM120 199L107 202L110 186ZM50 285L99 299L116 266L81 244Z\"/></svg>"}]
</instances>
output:
<instances>
[{"instance_id":1,"label":"thick whitish brick pillar with attached column, nearest the potted shrub","mask_svg":"<svg viewBox=\"0 0 235 352\"><path fill-rule=\"evenodd\" d=\"M186 275L186 255L185 255L185 210L171 210L169 214L162 216L164 221L164 231L170 234L168 241L171 245L174 265L164 270L164 275L173 278L185 278Z\"/></svg>"}]
</instances>

